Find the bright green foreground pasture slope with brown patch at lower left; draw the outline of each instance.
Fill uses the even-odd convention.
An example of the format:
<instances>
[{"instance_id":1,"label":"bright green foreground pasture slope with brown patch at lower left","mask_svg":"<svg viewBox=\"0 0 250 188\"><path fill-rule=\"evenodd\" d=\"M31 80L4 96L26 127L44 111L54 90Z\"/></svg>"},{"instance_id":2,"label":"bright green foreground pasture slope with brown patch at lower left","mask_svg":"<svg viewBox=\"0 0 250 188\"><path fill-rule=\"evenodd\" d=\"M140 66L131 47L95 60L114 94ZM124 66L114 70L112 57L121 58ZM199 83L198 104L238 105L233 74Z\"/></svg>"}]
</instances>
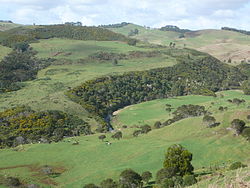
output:
<instances>
[{"instance_id":1,"label":"bright green foreground pasture slope with brown patch at lower left","mask_svg":"<svg viewBox=\"0 0 250 188\"><path fill-rule=\"evenodd\" d=\"M202 117L196 117L154 129L147 135L137 138L132 137L135 128L123 129L124 136L120 141L111 140L111 133L108 133L106 140L112 142L110 146L100 141L97 134L75 138L79 140L79 145L72 145L74 139L65 139L60 143L25 145L19 147L19 151L4 149L0 153L0 174L17 176L26 182L39 182L45 187L51 184L54 187L81 187L85 183L99 183L108 177L117 179L119 173L126 168L133 168L140 173L150 170L155 174L162 167L166 149L176 143L182 144L193 153L193 165L196 169L223 162L249 163L249 144L244 138L233 136L233 133L226 128L234 118L246 121L246 115L250 114L250 110L247 109L250 97L237 91L227 91L222 94L224 98L195 99L196 96L190 96L188 99L192 104L208 106L211 102L215 103L211 111L214 112L217 121L221 122L216 128L205 128L202 125ZM245 98L247 104L239 108L229 105L226 99L234 97ZM177 107L187 103L186 99L180 97L174 100L164 99L164 102L158 100L152 102L168 103ZM222 113L217 111L220 105L228 106L229 110ZM164 113L165 110L162 109L162 114ZM248 125L249 123L247 122ZM43 165L51 165L63 173L57 177L45 176L40 172Z\"/></svg>"}]
</instances>

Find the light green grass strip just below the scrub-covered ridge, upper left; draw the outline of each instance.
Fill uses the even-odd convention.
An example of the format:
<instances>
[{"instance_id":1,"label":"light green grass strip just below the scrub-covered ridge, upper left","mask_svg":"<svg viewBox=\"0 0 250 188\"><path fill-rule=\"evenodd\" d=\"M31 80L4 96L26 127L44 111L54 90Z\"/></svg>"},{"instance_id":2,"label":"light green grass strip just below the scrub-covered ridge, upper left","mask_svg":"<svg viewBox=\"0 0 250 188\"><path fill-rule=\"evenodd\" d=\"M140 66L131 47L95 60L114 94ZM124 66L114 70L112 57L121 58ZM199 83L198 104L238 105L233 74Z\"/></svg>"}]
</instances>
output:
<instances>
[{"instance_id":1,"label":"light green grass strip just below the scrub-covered ridge, upper left","mask_svg":"<svg viewBox=\"0 0 250 188\"><path fill-rule=\"evenodd\" d=\"M70 60L83 59L97 52L126 53L147 50L116 41L81 41L58 38L40 40L39 43L33 43L31 46L38 51L38 57Z\"/></svg>"}]
</instances>

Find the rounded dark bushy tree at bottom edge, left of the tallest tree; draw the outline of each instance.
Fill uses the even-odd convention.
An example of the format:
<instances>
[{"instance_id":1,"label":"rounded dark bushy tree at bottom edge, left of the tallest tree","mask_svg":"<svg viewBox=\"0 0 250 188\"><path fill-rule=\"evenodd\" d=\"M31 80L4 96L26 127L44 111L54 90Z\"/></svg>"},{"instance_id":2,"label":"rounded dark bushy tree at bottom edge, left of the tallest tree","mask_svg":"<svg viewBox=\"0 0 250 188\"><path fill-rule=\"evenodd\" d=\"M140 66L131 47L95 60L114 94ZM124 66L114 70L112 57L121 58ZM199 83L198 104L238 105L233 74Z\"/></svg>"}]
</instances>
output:
<instances>
[{"instance_id":1,"label":"rounded dark bushy tree at bottom edge, left of the tallest tree","mask_svg":"<svg viewBox=\"0 0 250 188\"><path fill-rule=\"evenodd\" d=\"M119 182L122 188L140 188L143 186L142 177L132 169L124 170L120 174Z\"/></svg>"}]
</instances>

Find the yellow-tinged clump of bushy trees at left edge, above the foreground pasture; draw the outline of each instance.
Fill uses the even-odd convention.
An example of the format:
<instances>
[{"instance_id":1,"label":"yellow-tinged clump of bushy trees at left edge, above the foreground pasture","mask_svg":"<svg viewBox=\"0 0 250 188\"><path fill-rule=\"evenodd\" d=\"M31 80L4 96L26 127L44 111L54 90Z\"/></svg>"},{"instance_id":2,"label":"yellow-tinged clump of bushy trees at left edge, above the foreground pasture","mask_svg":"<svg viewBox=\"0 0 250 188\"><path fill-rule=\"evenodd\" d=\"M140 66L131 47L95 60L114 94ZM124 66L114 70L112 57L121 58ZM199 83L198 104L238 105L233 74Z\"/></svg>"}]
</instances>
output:
<instances>
[{"instance_id":1,"label":"yellow-tinged clump of bushy trees at left edge, above the foreground pasture","mask_svg":"<svg viewBox=\"0 0 250 188\"><path fill-rule=\"evenodd\" d=\"M90 125L77 116L61 111L35 112L26 106L0 112L0 125L0 148L91 134Z\"/></svg>"}]
</instances>

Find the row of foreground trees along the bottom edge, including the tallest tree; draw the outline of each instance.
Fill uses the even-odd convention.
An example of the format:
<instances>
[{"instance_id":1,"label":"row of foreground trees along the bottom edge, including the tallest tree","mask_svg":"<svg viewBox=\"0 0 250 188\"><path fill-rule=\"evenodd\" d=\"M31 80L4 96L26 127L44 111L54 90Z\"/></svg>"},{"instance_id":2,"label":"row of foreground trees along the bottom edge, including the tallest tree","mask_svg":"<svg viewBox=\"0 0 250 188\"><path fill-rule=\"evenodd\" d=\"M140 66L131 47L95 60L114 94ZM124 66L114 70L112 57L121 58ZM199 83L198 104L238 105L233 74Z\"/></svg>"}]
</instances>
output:
<instances>
[{"instance_id":1,"label":"row of foreground trees along the bottom edge, including the tallest tree","mask_svg":"<svg viewBox=\"0 0 250 188\"><path fill-rule=\"evenodd\" d=\"M168 148L163 168L156 174L157 187L182 187L190 186L197 182L194 173L192 153L183 146L175 144ZM152 179L152 173L145 171L141 175L132 169L121 172L118 181L106 179L100 183L100 188L142 188ZM144 184L145 183L145 184ZM95 184L87 184L84 188L99 188Z\"/></svg>"}]
</instances>

